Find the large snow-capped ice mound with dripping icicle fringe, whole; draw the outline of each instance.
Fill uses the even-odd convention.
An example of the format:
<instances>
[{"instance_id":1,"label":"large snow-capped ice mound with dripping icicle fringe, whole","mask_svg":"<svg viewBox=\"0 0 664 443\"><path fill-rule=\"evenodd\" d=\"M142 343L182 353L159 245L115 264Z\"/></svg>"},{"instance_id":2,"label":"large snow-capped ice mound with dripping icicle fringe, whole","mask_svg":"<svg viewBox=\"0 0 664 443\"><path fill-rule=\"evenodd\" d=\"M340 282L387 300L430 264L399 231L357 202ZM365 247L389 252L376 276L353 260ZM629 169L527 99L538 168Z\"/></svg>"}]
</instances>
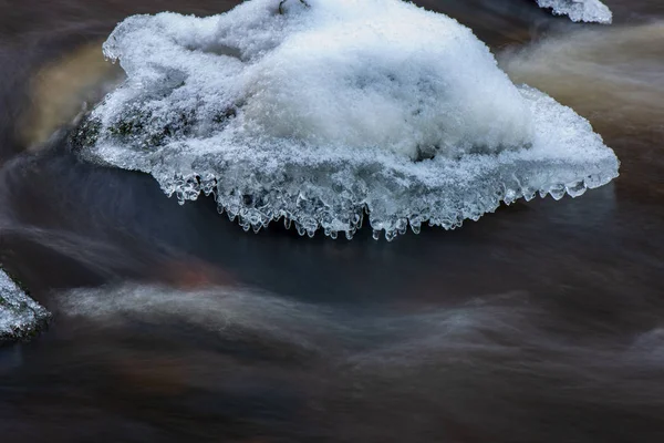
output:
<instances>
[{"instance_id":1,"label":"large snow-capped ice mound with dripping icicle fringe, whole","mask_svg":"<svg viewBox=\"0 0 664 443\"><path fill-rule=\"evenodd\" d=\"M252 0L126 19L126 83L73 136L85 158L214 194L245 229L349 238L454 228L500 202L578 196L618 159L572 110L516 86L455 20L398 0Z\"/></svg>"}]
</instances>

